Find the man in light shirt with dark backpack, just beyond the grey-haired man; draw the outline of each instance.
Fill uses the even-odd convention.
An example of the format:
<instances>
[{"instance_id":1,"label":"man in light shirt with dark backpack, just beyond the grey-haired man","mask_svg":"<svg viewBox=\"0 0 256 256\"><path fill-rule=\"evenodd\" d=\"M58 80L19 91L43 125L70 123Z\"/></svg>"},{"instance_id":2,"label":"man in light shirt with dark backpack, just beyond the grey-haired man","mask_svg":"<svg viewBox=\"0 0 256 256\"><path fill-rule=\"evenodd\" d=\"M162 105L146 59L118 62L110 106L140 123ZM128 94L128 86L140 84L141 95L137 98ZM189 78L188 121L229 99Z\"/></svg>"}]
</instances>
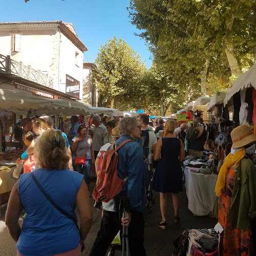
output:
<instances>
[{"instance_id":1,"label":"man in light shirt with dark backpack, just beyond the grey-haired man","mask_svg":"<svg viewBox=\"0 0 256 256\"><path fill-rule=\"evenodd\" d=\"M148 131L148 136L149 136L149 141L148 141L148 156L147 158L144 160L146 168L148 170L147 172L147 183L146 183L146 190L148 190L148 186L150 184L150 178L151 178L151 174L152 174L152 151L154 152L155 150L155 146L157 144L157 137L156 135L147 129L147 125L150 122L150 119L148 118L148 116L146 115L141 115L138 117L139 120L139 124L142 125L141 126L141 130L147 130Z\"/></svg>"}]
</instances>

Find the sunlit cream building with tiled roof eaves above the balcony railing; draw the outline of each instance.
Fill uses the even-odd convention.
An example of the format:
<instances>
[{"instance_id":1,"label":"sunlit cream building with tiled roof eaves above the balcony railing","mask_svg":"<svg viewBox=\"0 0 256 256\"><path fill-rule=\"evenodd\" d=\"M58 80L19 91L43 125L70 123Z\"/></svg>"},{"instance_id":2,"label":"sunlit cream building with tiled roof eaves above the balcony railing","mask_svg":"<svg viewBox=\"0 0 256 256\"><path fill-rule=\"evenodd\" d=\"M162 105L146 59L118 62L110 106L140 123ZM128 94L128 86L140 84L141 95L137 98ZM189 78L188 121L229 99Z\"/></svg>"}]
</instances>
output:
<instances>
[{"instance_id":1,"label":"sunlit cream building with tiled roof eaves above the balcony railing","mask_svg":"<svg viewBox=\"0 0 256 256\"><path fill-rule=\"evenodd\" d=\"M86 46L71 23L0 23L0 54L53 79L52 88L82 99L83 52Z\"/></svg>"}]
</instances>

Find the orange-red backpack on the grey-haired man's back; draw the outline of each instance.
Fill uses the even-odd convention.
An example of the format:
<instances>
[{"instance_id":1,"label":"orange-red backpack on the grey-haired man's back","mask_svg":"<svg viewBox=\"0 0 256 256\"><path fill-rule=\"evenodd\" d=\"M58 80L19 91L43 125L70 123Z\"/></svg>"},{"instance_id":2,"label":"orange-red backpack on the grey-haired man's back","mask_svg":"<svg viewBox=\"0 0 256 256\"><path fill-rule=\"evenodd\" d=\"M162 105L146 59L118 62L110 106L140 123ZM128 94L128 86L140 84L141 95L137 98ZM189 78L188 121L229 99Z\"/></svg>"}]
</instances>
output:
<instances>
[{"instance_id":1,"label":"orange-red backpack on the grey-haired man's back","mask_svg":"<svg viewBox=\"0 0 256 256\"><path fill-rule=\"evenodd\" d=\"M117 175L117 151L120 147L130 141L134 142L134 140L125 140L117 148L114 148L115 144L112 143L111 149L105 152L101 163L100 175L93 190L93 198L96 202L108 203L122 191L127 177L122 180Z\"/></svg>"}]
</instances>

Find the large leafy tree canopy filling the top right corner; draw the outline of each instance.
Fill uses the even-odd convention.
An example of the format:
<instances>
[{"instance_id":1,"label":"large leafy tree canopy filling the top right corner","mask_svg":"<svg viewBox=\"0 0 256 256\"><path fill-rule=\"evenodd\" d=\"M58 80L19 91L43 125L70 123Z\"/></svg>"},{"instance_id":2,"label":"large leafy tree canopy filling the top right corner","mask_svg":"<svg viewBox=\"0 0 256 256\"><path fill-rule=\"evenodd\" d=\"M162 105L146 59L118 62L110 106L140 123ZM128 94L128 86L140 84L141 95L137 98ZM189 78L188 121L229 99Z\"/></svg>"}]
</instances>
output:
<instances>
[{"instance_id":1,"label":"large leafy tree canopy filling the top right corner","mask_svg":"<svg viewBox=\"0 0 256 256\"><path fill-rule=\"evenodd\" d=\"M200 82L250 67L255 55L253 0L133 0L131 22L173 83Z\"/></svg>"}]
</instances>

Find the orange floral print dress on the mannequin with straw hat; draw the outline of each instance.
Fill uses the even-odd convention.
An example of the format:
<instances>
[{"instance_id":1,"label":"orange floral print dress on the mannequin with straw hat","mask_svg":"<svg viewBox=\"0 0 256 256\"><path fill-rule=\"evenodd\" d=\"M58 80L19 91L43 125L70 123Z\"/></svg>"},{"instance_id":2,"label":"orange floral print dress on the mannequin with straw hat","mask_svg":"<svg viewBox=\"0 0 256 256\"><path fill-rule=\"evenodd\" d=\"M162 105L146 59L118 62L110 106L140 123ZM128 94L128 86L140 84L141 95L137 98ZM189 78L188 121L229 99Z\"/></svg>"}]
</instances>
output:
<instances>
[{"instance_id":1,"label":"orange floral print dress on the mannequin with straw hat","mask_svg":"<svg viewBox=\"0 0 256 256\"><path fill-rule=\"evenodd\" d=\"M222 193L218 202L218 220L224 228L220 234L220 255L253 255L252 253L252 234L249 227L248 230L239 228L231 228L230 220L230 203L233 194L234 171L238 165L229 168L226 174L225 191Z\"/></svg>"}]
</instances>

